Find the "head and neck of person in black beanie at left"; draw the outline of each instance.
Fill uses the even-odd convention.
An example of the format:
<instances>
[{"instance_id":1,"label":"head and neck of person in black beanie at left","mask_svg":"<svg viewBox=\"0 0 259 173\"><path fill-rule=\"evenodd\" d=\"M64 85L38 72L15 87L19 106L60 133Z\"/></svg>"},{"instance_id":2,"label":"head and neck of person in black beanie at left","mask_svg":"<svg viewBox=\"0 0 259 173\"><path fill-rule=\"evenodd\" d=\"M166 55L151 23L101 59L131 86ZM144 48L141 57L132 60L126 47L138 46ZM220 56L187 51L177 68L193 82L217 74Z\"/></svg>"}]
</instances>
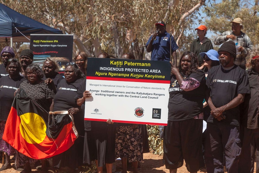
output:
<instances>
[{"instance_id":1,"label":"head and neck of person in black beanie at left","mask_svg":"<svg viewBox=\"0 0 259 173\"><path fill-rule=\"evenodd\" d=\"M27 66L32 63L33 52L30 49L25 49L20 54L20 62L22 65L22 75L25 75L25 70Z\"/></svg>"}]
</instances>

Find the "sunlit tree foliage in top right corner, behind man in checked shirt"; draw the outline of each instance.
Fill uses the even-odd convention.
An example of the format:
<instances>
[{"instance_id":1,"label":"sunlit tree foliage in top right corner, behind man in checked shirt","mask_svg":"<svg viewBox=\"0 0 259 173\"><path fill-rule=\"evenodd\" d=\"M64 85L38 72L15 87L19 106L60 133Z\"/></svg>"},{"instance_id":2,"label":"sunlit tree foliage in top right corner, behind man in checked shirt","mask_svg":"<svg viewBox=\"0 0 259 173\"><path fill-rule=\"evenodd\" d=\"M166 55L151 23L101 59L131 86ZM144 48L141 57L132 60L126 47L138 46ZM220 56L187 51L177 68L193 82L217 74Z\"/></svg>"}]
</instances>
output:
<instances>
[{"instance_id":1,"label":"sunlit tree foliage in top right corner, behind man in checked shirt","mask_svg":"<svg viewBox=\"0 0 259 173\"><path fill-rule=\"evenodd\" d=\"M231 23L234 18L240 17L243 20L245 32L254 45L259 44L259 6L258 1L240 0L216 0L210 1L204 12L207 15L206 26L216 34L231 30Z\"/></svg>"}]
</instances>

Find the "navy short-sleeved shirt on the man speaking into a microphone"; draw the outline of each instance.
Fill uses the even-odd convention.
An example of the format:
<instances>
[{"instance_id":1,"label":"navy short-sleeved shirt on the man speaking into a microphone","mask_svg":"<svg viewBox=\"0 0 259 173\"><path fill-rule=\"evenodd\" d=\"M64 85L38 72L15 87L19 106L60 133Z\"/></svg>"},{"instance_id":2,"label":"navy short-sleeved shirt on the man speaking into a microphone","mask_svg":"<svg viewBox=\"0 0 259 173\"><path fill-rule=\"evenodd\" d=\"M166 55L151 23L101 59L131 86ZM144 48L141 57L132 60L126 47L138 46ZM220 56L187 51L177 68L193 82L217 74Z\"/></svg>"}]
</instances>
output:
<instances>
[{"instance_id":1,"label":"navy short-sleeved shirt on the man speaking into a microphone","mask_svg":"<svg viewBox=\"0 0 259 173\"><path fill-rule=\"evenodd\" d=\"M148 39L146 47L151 41L152 36ZM171 36L171 53L178 49L178 45L175 42L173 36ZM170 61L170 34L165 32L162 35L158 35L152 44L151 60L158 61Z\"/></svg>"}]
</instances>

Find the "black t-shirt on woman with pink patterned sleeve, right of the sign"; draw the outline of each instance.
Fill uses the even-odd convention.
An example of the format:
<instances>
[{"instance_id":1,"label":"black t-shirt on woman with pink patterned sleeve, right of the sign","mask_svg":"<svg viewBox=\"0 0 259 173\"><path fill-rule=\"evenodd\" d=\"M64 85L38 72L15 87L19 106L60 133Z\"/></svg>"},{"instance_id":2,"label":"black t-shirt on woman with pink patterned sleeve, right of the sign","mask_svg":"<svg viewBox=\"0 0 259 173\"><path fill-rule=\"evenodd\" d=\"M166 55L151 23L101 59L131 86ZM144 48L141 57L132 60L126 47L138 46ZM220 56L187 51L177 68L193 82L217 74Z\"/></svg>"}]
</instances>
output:
<instances>
[{"instance_id":1,"label":"black t-shirt on woman with pink patterned sleeve, right of the sign","mask_svg":"<svg viewBox=\"0 0 259 173\"><path fill-rule=\"evenodd\" d=\"M184 79L194 78L200 82L200 86L192 91L183 91L175 77L171 76L169 87L168 120L185 120L199 115L203 111L204 91L206 88L205 74L202 70L186 76Z\"/></svg>"}]
</instances>

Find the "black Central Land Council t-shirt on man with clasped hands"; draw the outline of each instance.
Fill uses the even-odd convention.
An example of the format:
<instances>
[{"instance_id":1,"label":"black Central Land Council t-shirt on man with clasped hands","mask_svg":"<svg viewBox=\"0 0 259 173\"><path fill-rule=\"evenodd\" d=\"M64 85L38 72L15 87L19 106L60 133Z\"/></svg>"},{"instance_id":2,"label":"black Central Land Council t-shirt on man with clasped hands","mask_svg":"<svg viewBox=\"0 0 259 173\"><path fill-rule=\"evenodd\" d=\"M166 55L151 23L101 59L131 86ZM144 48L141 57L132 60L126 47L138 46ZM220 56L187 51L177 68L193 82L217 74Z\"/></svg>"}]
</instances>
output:
<instances>
[{"instance_id":1,"label":"black Central Land Council t-shirt on man with clasped hands","mask_svg":"<svg viewBox=\"0 0 259 173\"><path fill-rule=\"evenodd\" d=\"M233 100L237 94L250 93L248 77L245 70L234 65L230 70L224 70L221 65L214 66L208 71L206 85L210 88L210 97L215 107L221 107ZM226 119L218 121L212 115L207 122L240 124L239 106L223 112Z\"/></svg>"}]
</instances>

